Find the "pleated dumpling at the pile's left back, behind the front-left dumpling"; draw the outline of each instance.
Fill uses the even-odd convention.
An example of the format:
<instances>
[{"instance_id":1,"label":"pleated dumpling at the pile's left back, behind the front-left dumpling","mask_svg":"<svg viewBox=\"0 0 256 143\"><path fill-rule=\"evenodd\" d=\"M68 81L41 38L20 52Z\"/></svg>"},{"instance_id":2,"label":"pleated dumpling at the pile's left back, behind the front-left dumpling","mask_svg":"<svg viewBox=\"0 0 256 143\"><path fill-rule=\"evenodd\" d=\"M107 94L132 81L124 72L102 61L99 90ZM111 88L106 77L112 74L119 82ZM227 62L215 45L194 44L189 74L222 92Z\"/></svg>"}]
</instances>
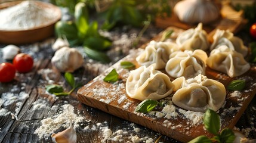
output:
<instances>
[{"instance_id":1,"label":"pleated dumpling at the pile's left back, behind the front-left dumpling","mask_svg":"<svg viewBox=\"0 0 256 143\"><path fill-rule=\"evenodd\" d=\"M148 67L155 64L155 69L161 70L165 68L169 55L174 51L178 51L175 43L151 41L136 60L140 66Z\"/></svg>"}]
</instances>

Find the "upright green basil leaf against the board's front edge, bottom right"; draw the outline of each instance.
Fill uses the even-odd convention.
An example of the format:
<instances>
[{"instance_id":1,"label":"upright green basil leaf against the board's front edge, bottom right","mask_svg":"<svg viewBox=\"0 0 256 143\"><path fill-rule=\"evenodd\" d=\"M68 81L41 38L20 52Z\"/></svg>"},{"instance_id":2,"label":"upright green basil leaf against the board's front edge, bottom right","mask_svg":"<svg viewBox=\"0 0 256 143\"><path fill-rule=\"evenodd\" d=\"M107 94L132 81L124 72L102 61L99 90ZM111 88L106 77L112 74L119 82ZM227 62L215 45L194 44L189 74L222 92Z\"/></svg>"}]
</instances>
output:
<instances>
[{"instance_id":1,"label":"upright green basil leaf against the board's front edge, bottom right","mask_svg":"<svg viewBox=\"0 0 256 143\"><path fill-rule=\"evenodd\" d=\"M203 115L203 124L210 133L217 135L220 130L220 116L214 110L208 109Z\"/></svg>"}]
</instances>

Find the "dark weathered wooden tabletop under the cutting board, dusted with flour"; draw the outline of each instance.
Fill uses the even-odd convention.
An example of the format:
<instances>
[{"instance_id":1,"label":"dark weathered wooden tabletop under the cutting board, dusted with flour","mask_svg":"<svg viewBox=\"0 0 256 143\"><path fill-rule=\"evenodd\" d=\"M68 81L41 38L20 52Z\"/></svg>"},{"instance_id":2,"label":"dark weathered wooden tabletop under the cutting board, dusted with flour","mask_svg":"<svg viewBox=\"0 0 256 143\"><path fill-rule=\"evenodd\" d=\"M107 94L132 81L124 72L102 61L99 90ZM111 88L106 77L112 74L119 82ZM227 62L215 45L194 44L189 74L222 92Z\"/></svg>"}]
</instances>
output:
<instances>
[{"instance_id":1,"label":"dark weathered wooden tabletop under the cutting board, dusted with flour","mask_svg":"<svg viewBox=\"0 0 256 143\"><path fill-rule=\"evenodd\" d=\"M149 39L153 38L153 36L161 30L162 29L150 27L150 29L144 33L141 43L149 41ZM134 30L128 27L128 29L123 28L115 30L114 35L117 40L122 38L121 35L124 36L124 33L130 35L131 33L138 33L139 31L140 30L138 29ZM135 139L135 136L138 136L141 142L178 142L167 136L161 135L160 133L144 128L143 126L136 125L120 119L119 117L88 107L77 100L76 91L68 97L54 97L53 95L48 94L45 91L45 85L48 85L51 82L63 85L66 90L70 90L70 86L67 85L64 80L63 73L58 73L57 71L52 70L53 67L50 62L51 57L54 55L54 51L51 49L52 40L53 38L31 45L21 45L22 52L33 55L35 60L33 70L26 74L16 74L16 78L13 82L0 83L1 97L5 96L7 93L19 95L20 92L29 95L29 97L16 100L10 105L2 105L2 108L10 111L14 116L12 118L11 113L6 116L0 116L0 142L51 142L50 135L39 138L38 134L35 133L35 130L42 125L41 120L59 114L61 105L64 104L73 105L75 114L79 115L79 117L84 117L81 122L76 124L79 125L76 127L76 133L78 135L77 142L115 142L113 141L113 137L110 137L109 140L105 138L106 136L104 136L103 133L105 128L111 129L112 132L118 130L127 132L122 133L122 136L118 140L120 142L132 142ZM85 57L84 66L73 73L76 82L81 82L85 85L104 69L107 69L107 67L129 53L127 49L123 49L122 52L116 50L122 49L116 48L122 46L122 43L118 44L116 43L115 47L112 47L112 50L109 51L113 61L111 64L100 64ZM4 45L0 45L0 48L3 46ZM0 62L2 63L3 61L2 55L0 54ZM43 74L44 72L47 72L46 69L50 72L48 76ZM36 104L33 103L39 101L43 105L34 108ZM243 113L239 122L236 124L236 127L243 133L245 133L246 130L251 129L251 131L248 132L248 138L256 138L255 111L256 97L254 97L251 104L249 104L245 113ZM67 120L67 124L68 123L69 121ZM63 127L58 128L54 133L64 129L65 128ZM104 140L104 138L106 140Z\"/></svg>"}]
</instances>

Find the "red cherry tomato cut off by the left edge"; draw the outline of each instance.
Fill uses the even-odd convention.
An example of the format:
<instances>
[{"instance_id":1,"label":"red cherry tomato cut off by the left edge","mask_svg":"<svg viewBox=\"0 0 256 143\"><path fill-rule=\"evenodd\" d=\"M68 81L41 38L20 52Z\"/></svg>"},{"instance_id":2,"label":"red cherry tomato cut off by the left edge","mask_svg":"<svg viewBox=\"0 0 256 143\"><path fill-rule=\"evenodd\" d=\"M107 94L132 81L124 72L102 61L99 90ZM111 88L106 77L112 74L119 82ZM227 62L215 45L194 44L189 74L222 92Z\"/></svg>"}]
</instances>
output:
<instances>
[{"instance_id":1,"label":"red cherry tomato cut off by the left edge","mask_svg":"<svg viewBox=\"0 0 256 143\"><path fill-rule=\"evenodd\" d=\"M11 82L14 79L16 69L11 63L0 64L0 82Z\"/></svg>"}]
</instances>

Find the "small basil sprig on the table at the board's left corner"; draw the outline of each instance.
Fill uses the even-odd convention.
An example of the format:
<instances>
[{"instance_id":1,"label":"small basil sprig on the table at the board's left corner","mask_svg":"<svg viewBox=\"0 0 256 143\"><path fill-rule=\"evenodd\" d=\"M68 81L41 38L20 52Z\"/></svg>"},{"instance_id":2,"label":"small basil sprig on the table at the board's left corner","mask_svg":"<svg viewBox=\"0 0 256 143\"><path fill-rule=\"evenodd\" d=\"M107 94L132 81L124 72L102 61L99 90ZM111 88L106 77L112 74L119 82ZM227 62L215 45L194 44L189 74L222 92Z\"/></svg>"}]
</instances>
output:
<instances>
[{"instance_id":1,"label":"small basil sprig on the table at the board's left corner","mask_svg":"<svg viewBox=\"0 0 256 143\"><path fill-rule=\"evenodd\" d=\"M63 87L60 85L47 85L45 87L46 91L56 96L67 96L67 95L70 95L76 88L79 88L82 86L81 83L78 83L78 84L75 83L75 78L71 73L66 72L64 74L64 77L67 83L72 87L72 89L69 92L64 92Z\"/></svg>"}]
</instances>

